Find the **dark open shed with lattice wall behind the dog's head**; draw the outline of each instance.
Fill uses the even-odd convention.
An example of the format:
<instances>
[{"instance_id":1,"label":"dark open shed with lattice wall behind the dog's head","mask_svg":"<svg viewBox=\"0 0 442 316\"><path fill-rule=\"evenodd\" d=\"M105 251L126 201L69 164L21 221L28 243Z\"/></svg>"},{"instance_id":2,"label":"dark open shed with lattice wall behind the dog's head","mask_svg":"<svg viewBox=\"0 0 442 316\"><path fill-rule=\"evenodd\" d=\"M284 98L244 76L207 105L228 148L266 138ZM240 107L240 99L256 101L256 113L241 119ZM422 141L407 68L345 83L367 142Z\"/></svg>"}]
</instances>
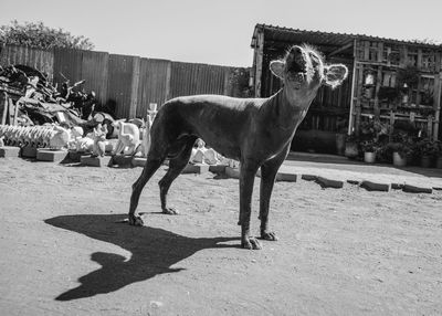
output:
<instances>
[{"instance_id":1,"label":"dark open shed with lattice wall behind the dog's head","mask_svg":"<svg viewBox=\"0 0 442 316\"><path fill-rule=\"evenodd\" d=\"M388 125L410 120L429 138L441 138L441 45L256 24L251 42L256 97L281 88L270 62L304 43L317 48L328 63L346 64L349 77L336 89L319 89L295 136L297 150L337 154L340 141L335 140L358 134L368 119ZM407 84L408 76L412 83Z\"/></svg>"}]
</instances>

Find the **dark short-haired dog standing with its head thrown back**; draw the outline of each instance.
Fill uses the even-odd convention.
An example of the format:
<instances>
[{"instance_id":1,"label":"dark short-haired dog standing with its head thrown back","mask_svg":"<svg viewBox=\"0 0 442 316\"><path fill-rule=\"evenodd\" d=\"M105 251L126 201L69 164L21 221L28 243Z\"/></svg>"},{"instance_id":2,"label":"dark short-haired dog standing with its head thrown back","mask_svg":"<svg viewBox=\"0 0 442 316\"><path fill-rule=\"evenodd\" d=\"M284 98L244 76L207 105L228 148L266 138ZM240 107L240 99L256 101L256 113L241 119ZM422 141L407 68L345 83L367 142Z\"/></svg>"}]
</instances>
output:
<instances>
[{"instance_id":1,"label":"dark short-haired dog standing with its head thrown back","mask_svg":"<svg viewBox=\"0 0 442 316\"><path fill-rule=\"evenodd\" d=\"M151 126L151 145L141 175L133 185L129 223L143 225L136 212L140 193L150 177L169 158L169 169L159 181L164 213L176 214L167 204L172 181L187 166L198 138L222 156L240 161L241 246L261 249L250 235L253 181L261 167L261 239L275 241L269 229L269 207L278 168L285 160L297 126L305 117L320 85L336 87L348 75L343 64L326 65L324 57L307 45L292 46L283 60L272 61L272 73L283 87L267 98L234 98L194 95L166 102Z\"/></svg>"}]
</instances>

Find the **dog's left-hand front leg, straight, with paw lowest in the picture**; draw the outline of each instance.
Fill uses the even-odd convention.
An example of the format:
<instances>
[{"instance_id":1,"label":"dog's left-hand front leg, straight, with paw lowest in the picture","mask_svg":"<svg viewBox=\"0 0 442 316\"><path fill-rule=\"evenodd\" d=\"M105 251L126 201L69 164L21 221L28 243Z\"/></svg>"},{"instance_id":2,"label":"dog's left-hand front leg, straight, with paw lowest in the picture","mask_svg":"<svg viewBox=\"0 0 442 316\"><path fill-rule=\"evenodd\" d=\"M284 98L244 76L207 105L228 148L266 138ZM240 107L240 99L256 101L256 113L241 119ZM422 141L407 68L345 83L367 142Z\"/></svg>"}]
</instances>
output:
<instances>
[{"instance_id":1,"label":"dog's left-hand front leg, straight, with paw lowest in the picture","mask_svg":"<svg viewBox=\"0 0 442 316\"><path fill-rule=\"evenodd\" d=\"M250 215L252 212L253 182L259 166L255 162L241 162L240 175L240 222L241 246L244 249L261 249L260 242L250 236Z\"/></svg>"}]
</instances>

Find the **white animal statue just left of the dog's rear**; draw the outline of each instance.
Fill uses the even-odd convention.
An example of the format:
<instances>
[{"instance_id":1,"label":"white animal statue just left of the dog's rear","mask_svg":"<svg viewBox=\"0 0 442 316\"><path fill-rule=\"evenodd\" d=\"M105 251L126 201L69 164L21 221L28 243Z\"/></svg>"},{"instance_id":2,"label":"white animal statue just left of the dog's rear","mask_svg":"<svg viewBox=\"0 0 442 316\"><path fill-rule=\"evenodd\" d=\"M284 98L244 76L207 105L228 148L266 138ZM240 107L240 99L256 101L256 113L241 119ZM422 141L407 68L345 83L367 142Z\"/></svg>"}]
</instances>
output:
<instances>
[{"instance_id":1,"label":"white animal statue just left of the dog's rear","mask_svg":"<svg viewBox=\"0 0 442 316\"><path fill-rule=\"evenodd\" d=\"M117 129L118 143L114 148L113 155L135 155L136 149L139 145L139 129L135 124L124 123L117 120L113 123L115 129Z\"/></svg>"}]
</instances>

